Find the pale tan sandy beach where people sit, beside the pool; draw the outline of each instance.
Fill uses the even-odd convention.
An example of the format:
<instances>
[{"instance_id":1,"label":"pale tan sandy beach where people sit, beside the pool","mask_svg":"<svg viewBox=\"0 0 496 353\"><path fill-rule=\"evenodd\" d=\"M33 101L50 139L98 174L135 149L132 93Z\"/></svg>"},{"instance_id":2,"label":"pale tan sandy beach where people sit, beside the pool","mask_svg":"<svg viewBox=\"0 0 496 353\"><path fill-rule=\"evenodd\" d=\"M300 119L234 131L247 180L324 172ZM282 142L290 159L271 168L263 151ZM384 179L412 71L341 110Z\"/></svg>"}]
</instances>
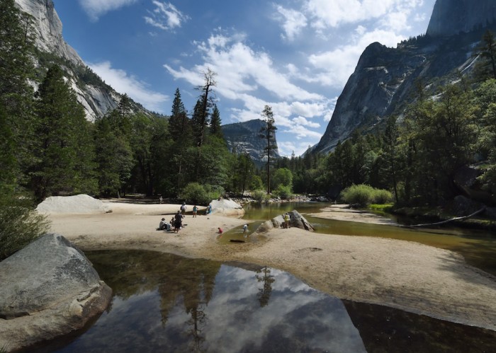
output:
<instances>
[{"instance_id":1,"label":"pale tan sandy beach where people sit, beside the pool","mask_svg":"<svg viewBox=\"0 0 496 353\"><path fill-rule=\"evenodd\" d=\"M449 250L387 238L272 229L256 242L222 243L224 231L244 224L218 215L187 215L179 233L157 231L179 204L129 204L106 201L106 214L50 214L52 231L81 250L137 249L210 260L249 262L291 272L340 299L374 303L465 325L496 330L496 278L470 267ZM188 205L188 210L192 205ZM203 214L204 212L200 212ZM385 222L346 209L318 216ZM386 222L387 223L387 222Z\"/></svg>"}]
</instances>

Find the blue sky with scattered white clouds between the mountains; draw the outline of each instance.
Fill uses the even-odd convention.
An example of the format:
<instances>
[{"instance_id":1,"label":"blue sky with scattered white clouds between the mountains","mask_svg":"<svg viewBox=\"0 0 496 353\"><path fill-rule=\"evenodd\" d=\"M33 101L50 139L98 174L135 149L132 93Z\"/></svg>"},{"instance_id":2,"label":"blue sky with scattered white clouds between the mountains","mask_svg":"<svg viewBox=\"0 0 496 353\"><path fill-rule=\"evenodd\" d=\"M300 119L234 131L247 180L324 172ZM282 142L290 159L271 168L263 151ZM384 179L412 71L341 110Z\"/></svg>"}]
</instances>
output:
<instances>
[{"instance_id":1,"label":"blue sky with scattered white clouds between the mountains","mask_svg":"<svg viewBox=\"0 0 496 353\"><path fill-rule=\"evenodd\" d=\"M192 111L208 68L222 124L270 105L279 153L325 132L372 42L425 33L435 0L53 0L64 40L101 78L168 115L179 88Z\"/></svg>"}]
</instances>

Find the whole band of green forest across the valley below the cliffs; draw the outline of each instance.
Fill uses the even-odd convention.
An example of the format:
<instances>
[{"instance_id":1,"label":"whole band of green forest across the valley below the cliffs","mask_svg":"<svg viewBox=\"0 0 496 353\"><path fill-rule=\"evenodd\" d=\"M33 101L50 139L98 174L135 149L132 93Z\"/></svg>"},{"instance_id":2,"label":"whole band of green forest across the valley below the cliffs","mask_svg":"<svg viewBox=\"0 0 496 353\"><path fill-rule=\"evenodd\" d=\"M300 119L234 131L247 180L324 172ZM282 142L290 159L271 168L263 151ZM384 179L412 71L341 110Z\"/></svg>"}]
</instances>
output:
<instances>
[{"instance_id":1,"label":"whole band of green forest across the valley below the cliffs","mask_svg":"<svg viewBox=\"0 0 496 353\"><path fill-rule=\"evenodd\" d=\"M480 190L494 195L492 33L483 37L470 77L460 76L456 83L439 88L435 98L419 88L415 103L402 115L388 117L371 133L356 131L327 156L307 153L271 159L267 175L249 154L227 149L221 114L212 99L215 72L204 73L205 83L197 87L198 101L191 112L177 89L167 117L135 109L124 95L115 110L88 122L64 79L64 66L54 63L45 71L35 67L33 57L40 53L33 45L29 19L13 0L1 1L0 7L4 199L23 195L40 202L51 195L115 197L137 192L173 199L196 195L191 201L203 202L224 192L327 195L329 190L367 184L390 190L398 204L436 205L458 195L455 175L461 167L473 165L481 170ZM36 91L33 82L39 83ZM272 148L269 144L266 152L271 154Z\"/></svg>"}]
</instances>

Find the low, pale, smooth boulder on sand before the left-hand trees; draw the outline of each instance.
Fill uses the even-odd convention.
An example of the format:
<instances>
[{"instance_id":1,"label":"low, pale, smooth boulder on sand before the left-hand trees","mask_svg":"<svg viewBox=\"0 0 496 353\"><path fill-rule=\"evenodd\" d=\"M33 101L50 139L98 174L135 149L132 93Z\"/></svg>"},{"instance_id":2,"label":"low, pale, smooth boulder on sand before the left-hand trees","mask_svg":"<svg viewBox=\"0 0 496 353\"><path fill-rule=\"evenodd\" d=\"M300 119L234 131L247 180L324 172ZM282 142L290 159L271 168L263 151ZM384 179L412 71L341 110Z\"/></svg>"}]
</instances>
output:
<instances>
[{"instance_id":1,"label":"low, pale, smooth boulder on sand before the left-hand trees","mask_svg":"<svg viewBox=\"0 0 496 353\"><path fill-rule=\"evenodd\" d=\"M101 214L112 212L112 209L99 199L89 195L50 196L38 204L36 211L43 214Z\"/></svg>"}]
</instances>

